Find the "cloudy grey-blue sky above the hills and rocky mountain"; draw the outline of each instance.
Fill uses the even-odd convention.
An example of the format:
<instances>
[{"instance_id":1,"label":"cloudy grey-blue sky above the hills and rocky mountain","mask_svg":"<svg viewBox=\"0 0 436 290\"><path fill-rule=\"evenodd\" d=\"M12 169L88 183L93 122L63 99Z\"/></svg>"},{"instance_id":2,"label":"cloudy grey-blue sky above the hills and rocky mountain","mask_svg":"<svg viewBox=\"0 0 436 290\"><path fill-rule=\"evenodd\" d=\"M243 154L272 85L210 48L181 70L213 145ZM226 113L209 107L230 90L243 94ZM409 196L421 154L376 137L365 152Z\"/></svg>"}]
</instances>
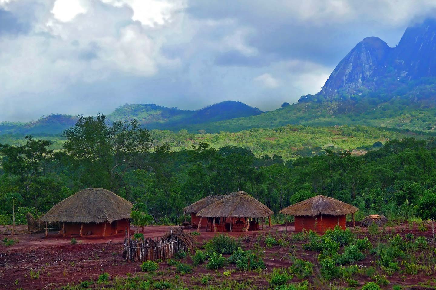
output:
<instances>
[{"instance_id":1,"label":"cloudy grey-blue sky above the hills and rocky mountain","mask_svg":"<svg viewBox=\"0 0 436 290\"><path fill-rule=\"evenodd\" d=\"M224 4L226 3L226 4ZM125 103L273 110L364 37L395 46L434 0L0 0L0 121Z\"/></svg>"}]
</instances>

